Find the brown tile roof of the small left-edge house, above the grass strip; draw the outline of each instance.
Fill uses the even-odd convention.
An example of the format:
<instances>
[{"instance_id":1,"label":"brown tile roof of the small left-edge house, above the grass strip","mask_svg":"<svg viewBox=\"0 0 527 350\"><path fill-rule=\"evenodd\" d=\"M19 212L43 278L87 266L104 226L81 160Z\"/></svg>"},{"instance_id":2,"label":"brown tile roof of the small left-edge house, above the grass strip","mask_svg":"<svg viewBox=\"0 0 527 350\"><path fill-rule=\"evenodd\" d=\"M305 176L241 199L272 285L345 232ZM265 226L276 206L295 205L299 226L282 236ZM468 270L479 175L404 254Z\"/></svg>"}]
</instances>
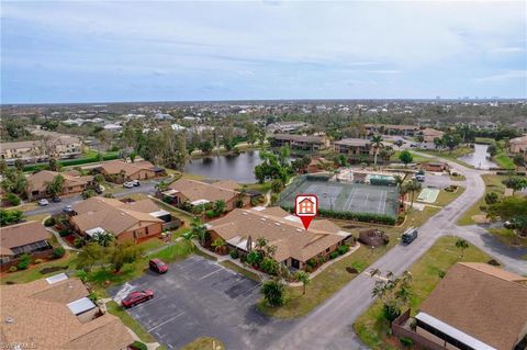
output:
<instances>
[{"instance_id":1,"label":"brown tile roof of the small left-edge house, above the grass strip","mask_svg":"<svg viewBox=\"0 0 527 350\"><path fill-rule=\"evenodd\" d=\"M51 234L37 222L20 223L0 228L2 255L13 255L11 248L49 239Z\"/></svg>"}]
</instances>

